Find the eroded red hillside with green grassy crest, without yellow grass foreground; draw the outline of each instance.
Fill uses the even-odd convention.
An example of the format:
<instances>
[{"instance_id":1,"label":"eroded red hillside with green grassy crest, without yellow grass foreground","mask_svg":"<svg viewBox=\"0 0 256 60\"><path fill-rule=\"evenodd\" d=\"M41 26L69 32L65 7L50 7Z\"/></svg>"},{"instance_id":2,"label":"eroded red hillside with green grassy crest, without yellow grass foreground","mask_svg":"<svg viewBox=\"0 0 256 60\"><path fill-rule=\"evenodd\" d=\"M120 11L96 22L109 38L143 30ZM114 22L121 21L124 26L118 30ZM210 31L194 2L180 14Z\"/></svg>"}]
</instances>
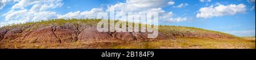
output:
<instances>
[{"instance_id":1,"label":"eroded red hillside with green grassy crest, without yellow grass foreground","mask_svg":"<svg viewBox=\"0 0 256 60\"><path fill-rule=\"evenodd\" d=\"M177 38L236 39L237 36L194 27L159 26L158 38L147 33L100 33L93 19L56 19L4 26L0 29L0 48L23 48L18 44L68 44L108 41L175 40ZM33 45L30 48L36 47Z\"/></svg>"}]
</instances>

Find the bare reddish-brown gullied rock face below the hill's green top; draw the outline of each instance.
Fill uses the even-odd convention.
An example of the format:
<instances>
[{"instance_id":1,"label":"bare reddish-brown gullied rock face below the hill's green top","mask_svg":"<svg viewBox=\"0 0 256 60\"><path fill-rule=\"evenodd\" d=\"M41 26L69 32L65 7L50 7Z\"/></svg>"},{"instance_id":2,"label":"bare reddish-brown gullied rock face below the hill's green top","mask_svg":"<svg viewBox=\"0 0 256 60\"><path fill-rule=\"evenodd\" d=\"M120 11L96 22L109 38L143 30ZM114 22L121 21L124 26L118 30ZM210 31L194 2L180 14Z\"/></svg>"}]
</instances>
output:
<instances>
[{"instance_id":1,"label":"bare reddish-brown gullied rock face below the hill's green top","mask_svg":"<svg viewBox=\"0 0 256 60\"><path fill-rule=\"evenodd\" d=\"M8 27L0 29L0 43L7 41L22 41L23 43L70 43L75 41L139 41L168 39L159 33L158 38L148 39L147 33L100 33L96 26L91 25L31 25L26 27Z\"/></svg>"}]
</instances>

